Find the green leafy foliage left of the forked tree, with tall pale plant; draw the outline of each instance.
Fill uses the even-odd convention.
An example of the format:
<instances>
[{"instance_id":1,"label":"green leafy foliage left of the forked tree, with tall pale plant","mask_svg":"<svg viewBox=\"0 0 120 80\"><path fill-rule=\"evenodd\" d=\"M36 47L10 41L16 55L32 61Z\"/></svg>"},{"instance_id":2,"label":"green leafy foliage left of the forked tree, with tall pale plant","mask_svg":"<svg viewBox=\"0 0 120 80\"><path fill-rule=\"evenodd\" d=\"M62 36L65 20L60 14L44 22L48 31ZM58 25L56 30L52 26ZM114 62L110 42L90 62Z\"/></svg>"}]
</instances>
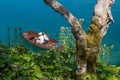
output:
<instances>
[{"instance_id":1,"label":"green leafy foliage left of the forked tree, with tall pale plant","mask_svg":"<svg viewBox=\"0 0 120 80\"><path fill-rule=\"evenodd\" d=\"M67 31L64 32L67 33ZM8 48L9 51L4 50L4 53L0 55L2 57L0 69L3 70L0 71L0 79L39 80L47 77L50 80L73 80L76 69L75 47L70 47L74 43L71 44L73 39L69 39L73 37L72 34L67 34L64 35L64 39L61 35L64 50L52 49L34 54L22 45ZM71 45L68 45L69 43ZM7 71L5 71L6 68Z\"/></svg>"}]
</instances>

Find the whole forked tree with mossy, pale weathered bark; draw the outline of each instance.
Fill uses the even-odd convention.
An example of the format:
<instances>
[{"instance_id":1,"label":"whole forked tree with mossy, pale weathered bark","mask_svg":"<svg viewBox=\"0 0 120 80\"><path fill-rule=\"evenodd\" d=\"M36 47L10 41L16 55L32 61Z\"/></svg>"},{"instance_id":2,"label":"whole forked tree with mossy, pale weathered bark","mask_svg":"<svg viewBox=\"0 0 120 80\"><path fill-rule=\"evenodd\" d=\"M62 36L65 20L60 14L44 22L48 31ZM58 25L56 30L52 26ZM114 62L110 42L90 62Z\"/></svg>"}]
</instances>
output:
<instances>
[{"instance_id":1,"label":"whole forked tree with mossy, pale weathered bark","mask_svg":"<svg viewBox=\"0 0 120 80\"><path fill-rule=\"evenodd\" d=\"M82 29L78 19L59 2L56 0L44 0L44 2L64 16L71 25L77 48L76 80L80 80L87 72L95 74L96 57L99 54L102 38L106 34L110 22L113 22L110 8L114 0L97 1L88 34Z\"/></svg>"}]
</instances>

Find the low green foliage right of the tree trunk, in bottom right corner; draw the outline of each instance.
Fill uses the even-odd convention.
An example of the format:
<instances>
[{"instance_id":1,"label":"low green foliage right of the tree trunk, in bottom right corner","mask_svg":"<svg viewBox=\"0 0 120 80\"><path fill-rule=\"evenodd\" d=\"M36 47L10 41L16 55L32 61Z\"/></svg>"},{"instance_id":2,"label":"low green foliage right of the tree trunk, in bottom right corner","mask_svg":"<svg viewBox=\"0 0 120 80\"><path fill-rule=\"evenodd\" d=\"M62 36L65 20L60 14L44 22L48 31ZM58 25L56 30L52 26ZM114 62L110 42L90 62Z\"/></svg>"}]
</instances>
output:
<instances>
[{"instance_id":1,"label":"low green foliage right of the tree trunk, in bottom right corner","mask_svg":"<svg viewBox=\"0 0 120 80\"><path fill-rule=\"evenodd\" d=\"M97 76L99 80L120 80L120 68L98 60Z\"/></svg>"}]
</instances>

